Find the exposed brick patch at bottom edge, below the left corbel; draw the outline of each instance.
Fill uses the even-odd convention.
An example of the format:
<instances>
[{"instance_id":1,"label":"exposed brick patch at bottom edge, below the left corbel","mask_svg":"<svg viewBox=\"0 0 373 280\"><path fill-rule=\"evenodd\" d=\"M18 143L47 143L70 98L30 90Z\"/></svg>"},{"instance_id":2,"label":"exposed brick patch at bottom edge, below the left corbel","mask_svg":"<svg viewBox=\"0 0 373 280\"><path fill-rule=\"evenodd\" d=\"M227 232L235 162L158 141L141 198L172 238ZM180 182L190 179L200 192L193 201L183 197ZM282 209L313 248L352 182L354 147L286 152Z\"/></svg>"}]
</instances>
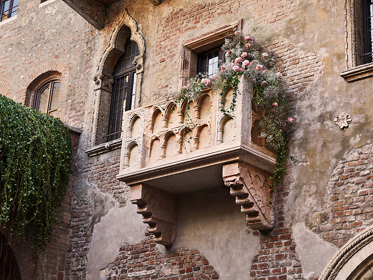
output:
<instances>
[{"instance_id":1,"label":"exposed brick patch at bottom edge, below the left corbel","mask_svg":"<svg viewBox=\"0 0 373 280\"><path fill-rule=\"evenodd\" d=\"M162 254L154 235L145 233L140 244L122 246L119 255L108 265L107 280L210 280L219 279L218 272L197 250L179 248Z\"/></svg>"}]
</instances>

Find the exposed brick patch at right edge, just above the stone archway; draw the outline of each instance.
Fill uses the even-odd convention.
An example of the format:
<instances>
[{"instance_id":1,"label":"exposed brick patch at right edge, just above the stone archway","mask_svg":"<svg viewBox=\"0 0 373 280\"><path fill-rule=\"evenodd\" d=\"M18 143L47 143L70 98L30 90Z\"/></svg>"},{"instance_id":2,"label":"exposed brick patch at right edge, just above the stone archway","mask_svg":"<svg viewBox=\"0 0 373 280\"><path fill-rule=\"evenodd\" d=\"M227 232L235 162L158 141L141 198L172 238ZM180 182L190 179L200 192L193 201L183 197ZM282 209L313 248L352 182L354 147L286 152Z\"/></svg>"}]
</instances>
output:
<instances>
[{"instance_id":1,"label":"exposed brick patch at right edge, just above the stone archway","mask_svg":"<svg viewBox=\"0 0 373 280\"><path fill-rule=\"evenodd\" d=\"M327 184L326 210L312 215L309 226L342 247L373 224L373 144L353 148L334 167Z\"/></svg>"}]
</instances>

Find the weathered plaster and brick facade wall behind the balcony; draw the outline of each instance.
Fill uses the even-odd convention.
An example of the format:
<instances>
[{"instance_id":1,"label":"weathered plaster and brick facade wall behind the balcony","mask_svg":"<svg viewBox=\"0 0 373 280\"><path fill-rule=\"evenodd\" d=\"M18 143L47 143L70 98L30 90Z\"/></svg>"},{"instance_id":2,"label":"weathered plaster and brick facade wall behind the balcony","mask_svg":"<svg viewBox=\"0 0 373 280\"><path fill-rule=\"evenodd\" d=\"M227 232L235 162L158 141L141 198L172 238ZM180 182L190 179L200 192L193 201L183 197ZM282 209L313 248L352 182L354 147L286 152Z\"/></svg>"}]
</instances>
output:
<instances>
[{"instance_id":1,"label":"weathered plaster and brick facade wall behind the balcony","mask_svg":"<svg viewBox=\"0 0 373 280\"><path fill-rule=\"evenodd\" d=\"M273 231L246 229L245 215L221 187L180 195L176 243L155 246L128 200L129 188L115 178L120 150L92 157L84 152L92 148L93 76L124 9L145 40L141 106L178 88L183 42L241 18L243 33L256 22L270 36L297 120L290 141L295 160L289 159L288 174L273 195ZM48 279L129 278L131 273L133 279L179 279L203 271L212 279L311 280L339 247L373 223L372 78L346 82L340 76L343 0L167 0L158 6L122 0L107 12L106 27L97 31L62 0L43 6L20 0L17 18L0 25L0 93L27 103L31 82L57 71L62 82L58 116L83 130L68 241L61 237L67 255L57 265L64 270L45 268ZM343 130L333 121L341 112L352 117ZM193 262L199 263L187 264ZM146 270L154 272L141 274Z\"/></svg>"}]
</instances>

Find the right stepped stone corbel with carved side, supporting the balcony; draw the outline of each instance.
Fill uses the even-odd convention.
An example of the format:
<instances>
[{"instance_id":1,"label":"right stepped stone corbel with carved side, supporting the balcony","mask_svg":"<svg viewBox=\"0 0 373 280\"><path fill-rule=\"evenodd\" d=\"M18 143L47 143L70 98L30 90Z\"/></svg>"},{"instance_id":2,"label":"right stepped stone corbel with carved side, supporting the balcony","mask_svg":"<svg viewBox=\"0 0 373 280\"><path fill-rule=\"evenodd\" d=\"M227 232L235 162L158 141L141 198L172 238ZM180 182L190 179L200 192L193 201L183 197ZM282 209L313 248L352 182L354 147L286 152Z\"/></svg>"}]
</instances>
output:
<instances>
[{"instance_id":1,"label":"right stepped stone corbel with carved side, supporting the balcony","mask_svg":"<svg viewBox=\"0 0 373 280\"><path fill-rule=\"evenodd\" d=\"M244 162L223 165L223 180L246 214L247 225L253 230L268 231L274 226L274 211L270 204L270 174Z\"/></svg>"}]
</instances>

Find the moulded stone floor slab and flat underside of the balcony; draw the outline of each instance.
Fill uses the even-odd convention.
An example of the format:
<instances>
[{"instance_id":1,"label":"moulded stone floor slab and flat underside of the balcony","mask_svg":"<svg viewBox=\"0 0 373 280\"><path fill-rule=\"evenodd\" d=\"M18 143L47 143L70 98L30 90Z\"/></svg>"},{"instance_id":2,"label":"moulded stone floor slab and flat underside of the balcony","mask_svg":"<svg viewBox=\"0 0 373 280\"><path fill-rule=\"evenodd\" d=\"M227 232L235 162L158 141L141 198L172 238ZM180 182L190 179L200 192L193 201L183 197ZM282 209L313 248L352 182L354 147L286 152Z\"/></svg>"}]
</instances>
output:
<instances>
[{"instance_id":1,"label":"moulded stone floor slab and flat underside of the balcony","mask_svg":"<svg viewBox=\"0 0 373 280\"><path fill-rule=\"evenodd\" d=\"M276 161L256 148L232 147L194 157L185 157L161 165L119 174L118 180L132 186L145 183L173 194L189 193L224 186L223 165L245 162L273 174Z\"/></svg>"}]
</instances>

